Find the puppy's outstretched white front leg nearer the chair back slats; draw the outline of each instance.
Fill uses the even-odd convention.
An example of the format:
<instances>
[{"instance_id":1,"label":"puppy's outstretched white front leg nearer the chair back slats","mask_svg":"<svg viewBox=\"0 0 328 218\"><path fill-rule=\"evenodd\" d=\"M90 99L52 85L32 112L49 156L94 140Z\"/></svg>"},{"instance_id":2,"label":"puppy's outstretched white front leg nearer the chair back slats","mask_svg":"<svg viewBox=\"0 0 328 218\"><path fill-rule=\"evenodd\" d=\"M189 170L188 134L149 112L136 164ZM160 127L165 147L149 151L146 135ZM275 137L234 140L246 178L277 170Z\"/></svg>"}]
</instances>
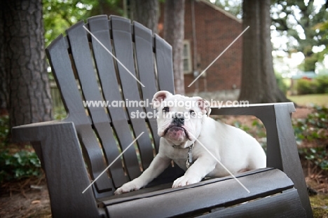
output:
<instances>
[{"instance_id":1,"label":"puppy's outstretched white front leg nearer the chair back slats","mask_svg":"<svg viewBox=\"0 0 328 218\"><path fill-rule=\"evenodd\" d=\"M168 165L170 164L171 160L169 158L160 157L157 155L151 161L149 168L142 172L142 175L133 179L131 182L127 182L121 186L121 188L116 189L115 194L121 194L129 191L134 191L141 189L146 184L149 184L154 178L158 177L160 173L162 173Z\"/></svg>"}]
</instances>

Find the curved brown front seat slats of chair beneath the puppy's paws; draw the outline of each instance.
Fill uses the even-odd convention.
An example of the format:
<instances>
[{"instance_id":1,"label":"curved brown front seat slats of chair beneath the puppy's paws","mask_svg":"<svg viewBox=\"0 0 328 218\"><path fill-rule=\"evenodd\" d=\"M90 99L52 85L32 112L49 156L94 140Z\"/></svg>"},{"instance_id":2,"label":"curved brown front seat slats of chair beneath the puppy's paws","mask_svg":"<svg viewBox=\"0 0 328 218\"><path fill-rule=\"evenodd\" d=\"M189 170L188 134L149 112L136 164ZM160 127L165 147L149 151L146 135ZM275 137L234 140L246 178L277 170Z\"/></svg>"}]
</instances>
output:
<instances>
[{"instance_id":1,"label":"curved brown front seat slats of chair beneath the puppy's paws","mask_svg":"<svg viewBox=\"0 0 328 218\"><path fill-rule=\"evenodd\" d=\"M228 207L292 189L292 181L280 170L259 170L238 177L250 193L233 178L210 179L177 189L142 193L130 198L104 200L109 217L172 217L203 214L212 207ZM131 200L133 199L133 200ZM153 203L156 202L156 205ZM165 205L165 206L163 206ZM192 213L191 213L192 212Z\"/></svg>"}]
</instances>

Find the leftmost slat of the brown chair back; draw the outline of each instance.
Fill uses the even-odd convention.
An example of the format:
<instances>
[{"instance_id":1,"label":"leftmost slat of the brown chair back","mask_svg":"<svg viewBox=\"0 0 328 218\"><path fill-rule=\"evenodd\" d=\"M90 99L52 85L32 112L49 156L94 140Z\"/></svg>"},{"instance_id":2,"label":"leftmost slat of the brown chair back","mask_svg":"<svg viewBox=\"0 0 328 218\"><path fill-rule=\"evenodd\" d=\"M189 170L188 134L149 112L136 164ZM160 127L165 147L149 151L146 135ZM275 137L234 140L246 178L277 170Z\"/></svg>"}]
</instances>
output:
<instances>
[{"instance_id":1,"label":"leftmost slat of the brown chair back","mask_svg":"<svg viewBox=\"0 0 328 218\"><path fill-rule=\"evenodd\" d=\"M60 93L62 93L63 102L69 114L66 121L73 121L76 125L78 137L85 147L83 148L83 153L86 154L86 162L88 168L93 171L92 177L94 179L105 169L104 161L102 161L102 150L97 144L95 135L90 134L93 130L83 107L82 97L76 86L74 73L71 69L69 53L67 51L67 44L62 36L59 36L47 48L47 54L54 72L55 80L57 81L57 86L60 89ZM113 188L111 179L108 179L108 177L100 177L100 179L95 182L95 185L99 191L108 191Z\"/></svg>"}]
</instances>

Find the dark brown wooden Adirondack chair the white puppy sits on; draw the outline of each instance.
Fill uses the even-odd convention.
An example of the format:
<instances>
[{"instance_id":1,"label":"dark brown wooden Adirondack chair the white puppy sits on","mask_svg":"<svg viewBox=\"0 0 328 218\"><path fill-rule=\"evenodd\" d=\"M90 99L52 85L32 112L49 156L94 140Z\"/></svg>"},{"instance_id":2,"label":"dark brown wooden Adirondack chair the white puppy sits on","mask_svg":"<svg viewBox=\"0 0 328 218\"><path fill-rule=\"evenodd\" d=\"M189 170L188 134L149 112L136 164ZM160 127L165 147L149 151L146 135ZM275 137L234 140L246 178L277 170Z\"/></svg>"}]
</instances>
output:
<instances>
[{"instance_id":1,"label":"dark brown wooden Adirondack chair the white puppy sits on","mask_svg":"<svg viewBox=\"0 0 328 218\"><path fill-rule=\"evenodd\" d=\"M236 175L250 193L233 177L172 189L184 173L172 165L146 188L114 196L158 151L156 119L131 117L153 109L85 107L83 101L151 101L158 90L174 93L172 48L138 22L100 15L70 27L46 51L68 116L12 132L16 141L32 142L41 160L53 217L312 217L292 103L212 108L212 114L257 116L266 127L268 168Z\"/></svg>"}]
</instances>

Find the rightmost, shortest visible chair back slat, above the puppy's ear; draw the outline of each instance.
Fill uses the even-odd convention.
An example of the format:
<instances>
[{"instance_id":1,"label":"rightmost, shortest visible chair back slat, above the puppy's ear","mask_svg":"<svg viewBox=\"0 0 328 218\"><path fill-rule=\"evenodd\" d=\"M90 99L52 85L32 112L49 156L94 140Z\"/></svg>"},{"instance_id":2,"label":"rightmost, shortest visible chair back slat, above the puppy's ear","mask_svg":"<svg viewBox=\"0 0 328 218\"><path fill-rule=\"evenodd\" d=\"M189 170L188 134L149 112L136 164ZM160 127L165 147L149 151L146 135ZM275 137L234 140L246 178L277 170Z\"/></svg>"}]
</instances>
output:
<instances>
[{"instance_id":1,"label":"rightmost, shortest visible chair back slat, above the puppy's ear","mask_svg":"<svg viewBox=\"0 0 328 218\"><path fill-rule=\"evenodd\" d=\"M159 90L167 90L170 93L175 93L172 47L157 34L155 34L155 52Z\"/></svg>"}]
</instances>

